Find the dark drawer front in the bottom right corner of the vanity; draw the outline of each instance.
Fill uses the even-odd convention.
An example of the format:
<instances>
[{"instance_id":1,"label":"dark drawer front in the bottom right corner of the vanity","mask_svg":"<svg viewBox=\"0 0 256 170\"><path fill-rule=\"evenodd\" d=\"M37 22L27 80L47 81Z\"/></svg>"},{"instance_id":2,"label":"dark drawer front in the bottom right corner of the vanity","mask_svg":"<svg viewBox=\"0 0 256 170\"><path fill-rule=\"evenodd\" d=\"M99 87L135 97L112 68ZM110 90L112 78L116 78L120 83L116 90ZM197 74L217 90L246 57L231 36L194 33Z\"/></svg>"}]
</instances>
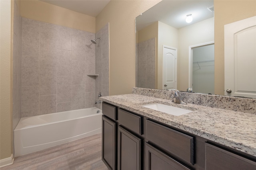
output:
<instances>
[{"instance_id":1,"label":"dark drawer front in the bottom right corner of the vanity","mask_svg":"<svg viewBox=\"0 0 256 170\"><path fill-rule=\"evenodd\" d=\"M205 143L206 170L256 170L256 162Z\"/></svg>"}]
</instances>

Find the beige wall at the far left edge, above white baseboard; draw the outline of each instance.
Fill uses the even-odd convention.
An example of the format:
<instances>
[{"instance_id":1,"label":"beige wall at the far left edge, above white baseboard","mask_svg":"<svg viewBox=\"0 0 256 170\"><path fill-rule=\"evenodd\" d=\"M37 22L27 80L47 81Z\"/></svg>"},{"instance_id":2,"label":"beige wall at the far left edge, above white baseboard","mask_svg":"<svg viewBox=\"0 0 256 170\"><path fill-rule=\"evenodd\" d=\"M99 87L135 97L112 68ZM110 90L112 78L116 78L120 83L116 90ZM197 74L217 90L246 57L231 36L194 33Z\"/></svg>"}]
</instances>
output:
<instances>
[{"instance_id":1,"label":"beige wall at the far left edge, above white baseboard","mask_svg":"<svg viewBox=\"0 0 256 170\"><path fill-rule=\"evenodd\" d=\"M11 1L0 1L0 159L12 154L12 15Z\"/></svg>"}]
</instances>

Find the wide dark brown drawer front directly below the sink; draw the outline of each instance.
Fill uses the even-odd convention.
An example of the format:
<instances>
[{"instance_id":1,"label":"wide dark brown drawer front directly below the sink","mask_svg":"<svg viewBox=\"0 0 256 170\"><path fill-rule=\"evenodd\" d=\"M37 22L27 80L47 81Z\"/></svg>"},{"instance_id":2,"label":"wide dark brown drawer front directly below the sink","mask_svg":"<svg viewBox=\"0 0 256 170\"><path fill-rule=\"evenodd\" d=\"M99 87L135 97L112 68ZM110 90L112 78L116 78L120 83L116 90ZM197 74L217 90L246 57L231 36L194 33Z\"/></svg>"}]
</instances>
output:
<instances>
[{"instance_id":1,"label":"wide dark brown drawer front directly below the sink","mask_svg":"<svg viewBox=\"0 0 256 170\"><path fill-rule=\"evenodd\" d=\"M194 165L194 138L146 120L146 138L173 156Z\"/></svg>"}]
</instances>

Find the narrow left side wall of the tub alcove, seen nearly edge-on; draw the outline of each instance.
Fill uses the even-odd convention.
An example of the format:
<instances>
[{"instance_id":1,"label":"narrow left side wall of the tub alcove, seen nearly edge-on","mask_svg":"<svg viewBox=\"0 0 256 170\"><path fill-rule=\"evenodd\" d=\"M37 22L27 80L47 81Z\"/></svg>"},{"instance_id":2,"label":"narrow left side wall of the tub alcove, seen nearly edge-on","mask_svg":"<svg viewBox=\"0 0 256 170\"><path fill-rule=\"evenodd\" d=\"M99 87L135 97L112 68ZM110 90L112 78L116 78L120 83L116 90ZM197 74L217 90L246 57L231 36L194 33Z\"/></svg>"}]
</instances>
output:
<instances>
[{"instance_id":1,"label":"narrow left side wall of the tub alcove, seen nearly edge-on","mask_svg":"<svg viewBox=\"0 0 256 170\"><path fill-rule=\"evenodd\" d=\"M12 85L12 126L16 127L20 120L21 109L21 22L18 2L14 1L14 25L13 25L13 85Z\"/></svg>"}]
</instances>

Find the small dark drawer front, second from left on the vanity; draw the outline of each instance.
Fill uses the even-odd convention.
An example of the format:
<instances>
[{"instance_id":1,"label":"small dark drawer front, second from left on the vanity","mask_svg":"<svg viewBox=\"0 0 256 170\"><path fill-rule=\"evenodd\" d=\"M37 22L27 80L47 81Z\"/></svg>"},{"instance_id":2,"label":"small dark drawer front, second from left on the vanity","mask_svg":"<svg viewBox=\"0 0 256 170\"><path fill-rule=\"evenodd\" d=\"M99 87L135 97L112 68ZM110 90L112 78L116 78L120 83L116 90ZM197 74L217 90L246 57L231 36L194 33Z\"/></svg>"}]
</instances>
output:
<instances>
[{"instance_id":1,"label":"small dark drawer front, second from left on the vanity","mask_svg":"<svg viewBox=\"0 0 256 170\"><path fill-rule=\"evenodd\" d=\"M141 116L135 115L128 111L124 111L122 109L118 109L118 122L124 127L127 127L128 129L140 135L142 135L141 121Z\"/></svg>"}]
</instances>

